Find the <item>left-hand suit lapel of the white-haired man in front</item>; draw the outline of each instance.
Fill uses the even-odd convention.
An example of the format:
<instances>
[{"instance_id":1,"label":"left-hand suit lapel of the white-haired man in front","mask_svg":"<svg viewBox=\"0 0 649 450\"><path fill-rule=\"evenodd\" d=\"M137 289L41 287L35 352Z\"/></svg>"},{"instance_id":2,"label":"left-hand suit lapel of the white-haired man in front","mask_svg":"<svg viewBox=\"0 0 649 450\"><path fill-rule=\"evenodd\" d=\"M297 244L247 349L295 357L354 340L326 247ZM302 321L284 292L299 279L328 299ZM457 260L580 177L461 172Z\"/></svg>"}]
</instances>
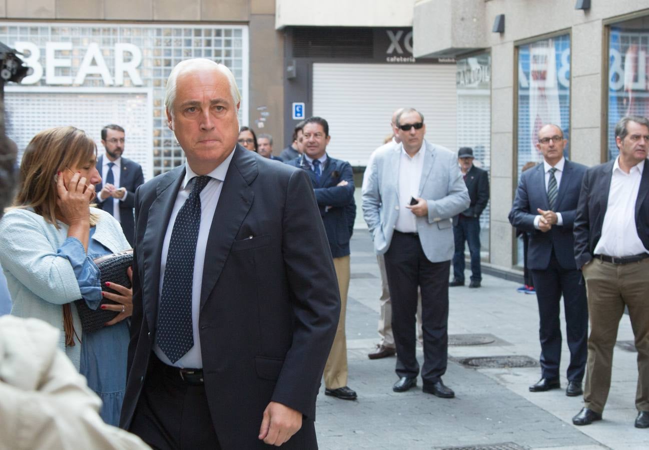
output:
<instances>
[{"instance_id":1,"label":"left-hand suit lapel of the white-haired man in front","mask_svg":"<svg viewBox=\"0 0 649 450\"><path fill-rule=\"evenodd\" d=\"M185 167L180 166L167 172L156 186L156 199L149 207L147 229L141 246L136 251L144 255L144 278L142 302L147 322L152 328L156 324L158 296L160 290L160 259L171 210L176 202L178 189L185 176Z\"/></svg>"}]
</instances>

